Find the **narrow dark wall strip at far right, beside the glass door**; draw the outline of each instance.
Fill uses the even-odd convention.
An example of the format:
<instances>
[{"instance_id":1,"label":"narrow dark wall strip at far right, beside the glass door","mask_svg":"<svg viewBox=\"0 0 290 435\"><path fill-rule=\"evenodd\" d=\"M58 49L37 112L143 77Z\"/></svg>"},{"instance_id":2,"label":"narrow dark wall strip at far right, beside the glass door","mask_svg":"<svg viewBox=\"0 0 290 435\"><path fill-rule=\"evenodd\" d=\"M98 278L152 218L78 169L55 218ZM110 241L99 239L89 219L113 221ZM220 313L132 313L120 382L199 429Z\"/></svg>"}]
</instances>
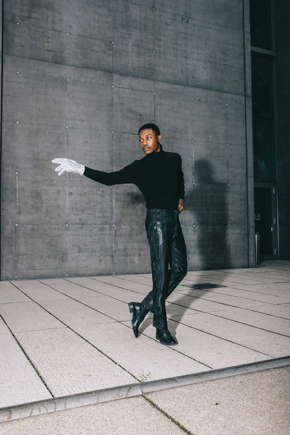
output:
<instances>
[{"instance_id":1,"label":"narrow dark wall strip at far right, beside the glass door","mask_svg":"<svg viewBox=\"0 0 290 435\"><path fill-rule=\"evenodd\" d=\"M290 260L290 3L274 2L277 107L279 258Z\"/></svg>"}]
</instances>

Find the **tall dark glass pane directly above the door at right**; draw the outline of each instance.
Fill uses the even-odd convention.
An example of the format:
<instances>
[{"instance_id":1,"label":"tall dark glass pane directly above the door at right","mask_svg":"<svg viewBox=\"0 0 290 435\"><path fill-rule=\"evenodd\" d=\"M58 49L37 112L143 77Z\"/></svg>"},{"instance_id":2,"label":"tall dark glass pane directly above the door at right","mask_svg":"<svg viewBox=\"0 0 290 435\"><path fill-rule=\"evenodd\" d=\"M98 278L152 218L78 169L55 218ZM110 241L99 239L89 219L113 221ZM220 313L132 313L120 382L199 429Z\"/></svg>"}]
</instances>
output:
<instances>
[{"instance_id":1,"label":"tall dark glass pane directly above the door at right","mask_svg":"<svg viewBox=\"0 0 290 435\"><path fill-rule=\"evenodd\" d=\"M252 53L254 181L276 181L273 59Z\"/></svg>"}]
</instances>

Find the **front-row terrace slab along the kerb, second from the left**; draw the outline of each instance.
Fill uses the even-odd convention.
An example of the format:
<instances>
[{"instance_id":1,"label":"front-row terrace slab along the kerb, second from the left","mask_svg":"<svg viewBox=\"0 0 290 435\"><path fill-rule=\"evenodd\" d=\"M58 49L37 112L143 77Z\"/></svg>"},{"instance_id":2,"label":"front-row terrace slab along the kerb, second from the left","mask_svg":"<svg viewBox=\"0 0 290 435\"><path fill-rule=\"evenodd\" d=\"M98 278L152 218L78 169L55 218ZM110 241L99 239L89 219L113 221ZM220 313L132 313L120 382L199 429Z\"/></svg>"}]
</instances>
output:
<instances>
[{"instance_id":1,"label":"front-row terrace slab along the kerb, second from the left","mask_svg":"<svg viewBox=\"0 0 290 435\"><path fill-rule=\"evenodd\" d=\"M16 336L55 397L134 382L127 371L69 328Z\"/></svg>"}]
</instances>

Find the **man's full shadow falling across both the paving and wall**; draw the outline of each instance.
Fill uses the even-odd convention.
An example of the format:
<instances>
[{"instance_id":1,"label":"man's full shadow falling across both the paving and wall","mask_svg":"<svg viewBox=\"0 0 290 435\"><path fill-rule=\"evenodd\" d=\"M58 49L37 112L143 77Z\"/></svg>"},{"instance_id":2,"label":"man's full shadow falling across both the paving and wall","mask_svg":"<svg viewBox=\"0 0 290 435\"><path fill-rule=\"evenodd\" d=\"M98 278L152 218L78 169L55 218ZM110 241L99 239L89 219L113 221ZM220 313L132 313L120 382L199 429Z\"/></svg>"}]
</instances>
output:
<instances>
[{"instance_id":1,"label":"man's full shadow falling across both the paving and wall","mask_svg":"<svg viewBox=\"0 0 290 435\"><path fill-rule=\"evenodd\" d=\"M212 164L206 159L199 159L194 164L193 188L186 191L185 210L190 213L190 221L193 222L190 239L193 245L187 246L189 257L189 270L205 271L216 269L228 269L230 267L230 216L229 216L229 195L230 189L227 183L217 181L214 175ZM188 228L186 229L188 231ZM189 249L193 249L189 252ZM198 281L198 278L187 275L188 281ZM222 272L221 277L209 276L207 282L227 279L227 274ZM184 284L184 281L181 283ZM216 283L216 284L219 284ZM195 291L192 288L183 287L184 293L174 299L178 306L178 314L175 320L180 322L184 315L190 314L188 310L188 297L202 298L208 293L207 290ZM188 291L186 291L188 290ZM190 304L194 310L194 301ZM199 311L199 310L198 310ZM203 312L203 311L200 311ZM206 312L206 311L204 311ZM167 305L167 316L173 316L174 307ZM196 311L193 311L193 314ZM146 318L140 326L140 333L152 325L152 317ZM177 324L178 325L178 324ZM176 326L177 326L176 325ZM170 332L175 337L175 330ZM178 338L178 337L177 337Z\"/></svg>"}]
</instances>

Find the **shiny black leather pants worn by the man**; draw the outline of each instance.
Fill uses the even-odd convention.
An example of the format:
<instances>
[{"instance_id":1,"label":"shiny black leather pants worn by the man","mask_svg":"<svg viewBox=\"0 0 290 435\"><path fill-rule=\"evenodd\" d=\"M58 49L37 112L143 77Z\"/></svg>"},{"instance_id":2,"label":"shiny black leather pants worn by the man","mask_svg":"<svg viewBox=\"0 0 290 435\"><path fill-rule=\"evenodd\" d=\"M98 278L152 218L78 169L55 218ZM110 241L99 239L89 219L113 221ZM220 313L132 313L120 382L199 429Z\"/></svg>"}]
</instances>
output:
<instances>
[{"instance_id":1,"label":"shiny black leather pants worn by the man","mask_svg":"<svg viewBox=\"0 0 290 435\"><path fill-rule=\"evenodd\" d=\"M153 326L159 329L167 328L166 298L187 274L187 253L178 214L178 210L147 209L145 225L153 290L141 305L154 313Z\"/></svg>"}]
</instances>

